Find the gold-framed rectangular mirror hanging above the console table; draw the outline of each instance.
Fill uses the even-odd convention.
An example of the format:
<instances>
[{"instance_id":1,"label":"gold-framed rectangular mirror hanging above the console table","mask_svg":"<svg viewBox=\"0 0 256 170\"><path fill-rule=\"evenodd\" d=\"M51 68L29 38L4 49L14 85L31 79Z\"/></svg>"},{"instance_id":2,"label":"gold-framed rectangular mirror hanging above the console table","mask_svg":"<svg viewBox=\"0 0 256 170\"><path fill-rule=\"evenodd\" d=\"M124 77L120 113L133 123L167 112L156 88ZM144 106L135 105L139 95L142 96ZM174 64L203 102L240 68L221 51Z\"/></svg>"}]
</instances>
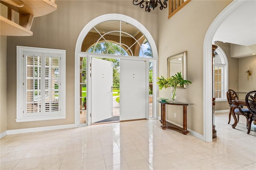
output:
<instances>
[{"instance_id":1,"label":"gold-framed rectangular mirror hanging above the console table","mask_svg":"<svg viewBox=\"0 0 256 170\"><path fill-rule=\"evenodd\" d=\"M167 76L174 76L177 72L181 72L182 78L187 79L187 51L173 55L167 58ZM187 88L187 85L177 86L178 88Z\"/></svg>"}]
</instances>

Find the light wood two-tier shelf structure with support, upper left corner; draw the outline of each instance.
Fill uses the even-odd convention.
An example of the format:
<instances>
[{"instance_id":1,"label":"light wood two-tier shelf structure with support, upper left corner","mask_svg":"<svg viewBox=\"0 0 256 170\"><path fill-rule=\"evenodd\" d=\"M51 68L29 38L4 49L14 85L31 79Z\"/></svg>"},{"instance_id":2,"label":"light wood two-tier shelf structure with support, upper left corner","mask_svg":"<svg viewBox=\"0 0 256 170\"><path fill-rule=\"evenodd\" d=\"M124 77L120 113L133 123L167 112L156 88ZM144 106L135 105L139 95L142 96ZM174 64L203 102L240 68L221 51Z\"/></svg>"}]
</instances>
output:
<instances>
[{"instance_id":1,"label":"light wood two-tier shelf structure with support, upper left corner","mask_svg":"<svg viewBox=\"0 0 256 170\"><path fill-rule=\"evenodd\" d=\"M8 7L8 19L12 18L12 12L9 12L10 10L20 14L19 24L0 16L0 35L33 35L32 31L30 31L33 18L44 16L57 9L55 0L1 0L0 2Z\"/></svg>"}]
</instances>

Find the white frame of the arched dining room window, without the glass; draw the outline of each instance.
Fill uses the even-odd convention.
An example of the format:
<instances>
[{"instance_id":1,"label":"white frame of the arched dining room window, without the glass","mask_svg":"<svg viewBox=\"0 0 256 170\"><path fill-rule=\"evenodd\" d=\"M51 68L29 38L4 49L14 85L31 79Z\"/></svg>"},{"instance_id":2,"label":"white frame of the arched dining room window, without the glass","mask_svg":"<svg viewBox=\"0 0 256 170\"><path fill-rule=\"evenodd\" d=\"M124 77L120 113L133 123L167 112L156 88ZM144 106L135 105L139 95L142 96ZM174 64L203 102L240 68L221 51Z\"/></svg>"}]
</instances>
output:
<instances>
[{"instance_id":1,"label":"white frame of the arched dining room window, without the glass","mask_svg":"<svg viewBox=\"0 0 256 170\"><path fill-rule=\"evenodd\" d=\"M222 48L218 46L218 48L215 50L216 53L218 53L218 56L220 57L222 64L219 63L214 63L214 66L222 67L222 98L217 98L215 99L216 102L222 102L222 101L227 101L227 95L226 91L228 90L228 59L223 51Z\"/></svg>"}]
</instances>

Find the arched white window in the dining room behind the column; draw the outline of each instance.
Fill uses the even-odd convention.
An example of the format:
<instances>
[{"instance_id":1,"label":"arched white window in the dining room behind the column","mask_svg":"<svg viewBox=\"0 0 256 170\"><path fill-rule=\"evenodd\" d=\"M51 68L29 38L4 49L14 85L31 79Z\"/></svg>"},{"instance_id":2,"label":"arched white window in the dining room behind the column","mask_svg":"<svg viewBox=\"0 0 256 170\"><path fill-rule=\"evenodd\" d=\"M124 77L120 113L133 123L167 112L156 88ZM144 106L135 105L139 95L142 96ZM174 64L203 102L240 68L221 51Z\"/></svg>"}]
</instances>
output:
<instances>
[{"instance_id":1,"label":"arched white window in the dining room behind the column","mask_svg":"<svg viewBox=\"0 0 256 170\"><path fill-rule=\"evenodd\" d=\"M214 58L214 97L216 102L226 101L228 90L228 59L224 51L218 47Z\"/></svg>"}]
</instances>

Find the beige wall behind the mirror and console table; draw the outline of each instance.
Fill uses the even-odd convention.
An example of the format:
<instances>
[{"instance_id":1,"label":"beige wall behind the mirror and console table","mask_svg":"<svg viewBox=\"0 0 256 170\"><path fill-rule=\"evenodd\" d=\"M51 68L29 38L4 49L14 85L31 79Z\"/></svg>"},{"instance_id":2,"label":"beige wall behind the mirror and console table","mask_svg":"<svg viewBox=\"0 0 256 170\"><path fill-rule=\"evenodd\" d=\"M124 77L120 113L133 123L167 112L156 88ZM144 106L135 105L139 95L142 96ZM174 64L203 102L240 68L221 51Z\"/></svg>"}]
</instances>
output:
<instances>
[{"instance_id":1,"label":"beige wall behind the mirror and console table","mask_svg":"<svg viewBox=\"0 0 256 170\"><path fill-rule=\"evenodd\" d=\"M192 84L178 89L176 100L191 102L188 106L188 128L203 134L203 43L206 31L218 14L232 1L192 0L168 20L168 10L158 12L159 76L167 76L167 58L187 51L187 79ZM212 57L212 56L209 56ZM159 96L170 96L170 89ZM212 98L212 96L209 96ZM182 107L168 106L167 119L182 125ZM173 117L174 111L177 117ZM160 113L160 105L158 109Z\"/></svg>"}]
</instances>

